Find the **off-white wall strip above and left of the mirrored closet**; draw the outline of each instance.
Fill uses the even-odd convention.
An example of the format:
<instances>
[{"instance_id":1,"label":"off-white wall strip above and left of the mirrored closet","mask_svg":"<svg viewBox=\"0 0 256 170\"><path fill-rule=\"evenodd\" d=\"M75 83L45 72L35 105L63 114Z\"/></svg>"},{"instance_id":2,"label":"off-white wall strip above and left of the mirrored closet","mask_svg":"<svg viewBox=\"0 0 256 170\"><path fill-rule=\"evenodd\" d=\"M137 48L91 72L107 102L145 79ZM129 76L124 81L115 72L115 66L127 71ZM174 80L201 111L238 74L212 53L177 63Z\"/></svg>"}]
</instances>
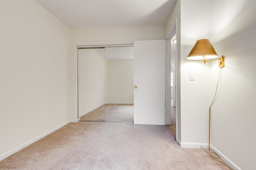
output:
<instances>
[{"instance_id":1,"label":"off-white wall strip above and left of the mirrored closet","mask_svg":"<svg viewBox=\"0 0 256 170\"><path fill-rule=\"evenodd\" d=\"M135 27L72 30L70 57L70 119L77 119L77 45L133 44L136 40L165 39L165 28Z\"/></svg>"}]
</instances>

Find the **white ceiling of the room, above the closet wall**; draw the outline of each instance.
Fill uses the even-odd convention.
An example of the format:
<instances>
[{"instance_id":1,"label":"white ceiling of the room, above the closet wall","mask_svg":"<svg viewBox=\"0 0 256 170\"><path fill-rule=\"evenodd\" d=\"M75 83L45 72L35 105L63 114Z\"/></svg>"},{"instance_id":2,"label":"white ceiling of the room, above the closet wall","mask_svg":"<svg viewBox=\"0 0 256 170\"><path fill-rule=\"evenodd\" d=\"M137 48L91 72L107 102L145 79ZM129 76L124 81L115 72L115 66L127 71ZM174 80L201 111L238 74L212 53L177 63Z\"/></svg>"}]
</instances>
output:
<instances>
[{"instance_id":1,"label":"white ceiling of the room, above the closet wall","mask_svg":"<svg viewBox=\"0 0 256 170\"><path fill-rule=\"evenodd\" d=\"M36 0L70 29L164 26L176 0Z\"/></svg>"}]
</instances>

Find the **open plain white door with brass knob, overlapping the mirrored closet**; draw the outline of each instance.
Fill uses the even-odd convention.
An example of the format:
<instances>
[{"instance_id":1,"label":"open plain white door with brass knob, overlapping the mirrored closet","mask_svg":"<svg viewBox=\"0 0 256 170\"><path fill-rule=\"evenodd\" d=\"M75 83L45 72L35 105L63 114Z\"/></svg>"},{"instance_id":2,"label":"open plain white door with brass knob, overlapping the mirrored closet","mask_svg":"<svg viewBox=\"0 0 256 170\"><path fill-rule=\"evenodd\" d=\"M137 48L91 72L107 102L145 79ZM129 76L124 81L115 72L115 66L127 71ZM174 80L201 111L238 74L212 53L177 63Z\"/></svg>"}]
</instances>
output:
<instances>
[{"instance_id":1,"label":"open plain white door with brass knob, overlapping the mirrored closet","mask_svg":"<svg viewBox=\"0 0 256 170\"><path fill-rule=\"evenodd\" d=\"M165 125L165 43L134 41L134 124Z\"/></svg>"}]
</instances>

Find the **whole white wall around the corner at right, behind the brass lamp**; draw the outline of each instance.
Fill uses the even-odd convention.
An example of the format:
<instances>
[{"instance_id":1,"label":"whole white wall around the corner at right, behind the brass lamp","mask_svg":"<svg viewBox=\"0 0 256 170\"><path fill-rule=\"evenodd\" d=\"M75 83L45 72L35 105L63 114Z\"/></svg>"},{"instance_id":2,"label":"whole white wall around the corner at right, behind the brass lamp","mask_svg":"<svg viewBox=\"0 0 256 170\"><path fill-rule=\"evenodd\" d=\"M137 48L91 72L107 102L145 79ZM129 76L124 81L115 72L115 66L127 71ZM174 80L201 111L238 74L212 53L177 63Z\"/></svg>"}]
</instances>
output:
<instances>
[{"instance_id":1,"label":"whole white wall around the corner at right, behind the brass lamp","mask_svg":"<svg viewBox=\"0 0 256 170\"><path fill-rule=\"evenodd\" d=\"M211 109L211 145L234 169L255 169L255 8L254 0L181 2L182 146L208 143L208 108L220 68L217 61L203 64L186 56L196 40L209 38L218 55L225 56ZM189 72L195 72L195 81L188 80Z\"/></svg>"}]
</instances>

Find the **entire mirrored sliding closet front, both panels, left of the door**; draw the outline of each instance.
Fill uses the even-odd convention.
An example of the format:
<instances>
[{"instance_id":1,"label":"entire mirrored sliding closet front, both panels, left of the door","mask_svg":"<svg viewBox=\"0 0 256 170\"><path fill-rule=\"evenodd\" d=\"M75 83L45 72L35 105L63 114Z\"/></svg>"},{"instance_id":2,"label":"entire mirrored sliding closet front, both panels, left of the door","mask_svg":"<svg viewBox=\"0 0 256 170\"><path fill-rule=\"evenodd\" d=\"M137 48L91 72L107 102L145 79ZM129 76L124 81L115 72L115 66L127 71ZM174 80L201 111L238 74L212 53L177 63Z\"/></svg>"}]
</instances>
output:
<instances>
[{"instance_id":1,"label":"entire mirrored sliding closet front, both panels, left of the door","mask_svg":"<svg viewBox=\"0 0 256 170\"><path fill-rule=\"evenodd\" d=\"M78 117L133 122L133 47L78 49Z\"/></svg>"}]
</instances>

